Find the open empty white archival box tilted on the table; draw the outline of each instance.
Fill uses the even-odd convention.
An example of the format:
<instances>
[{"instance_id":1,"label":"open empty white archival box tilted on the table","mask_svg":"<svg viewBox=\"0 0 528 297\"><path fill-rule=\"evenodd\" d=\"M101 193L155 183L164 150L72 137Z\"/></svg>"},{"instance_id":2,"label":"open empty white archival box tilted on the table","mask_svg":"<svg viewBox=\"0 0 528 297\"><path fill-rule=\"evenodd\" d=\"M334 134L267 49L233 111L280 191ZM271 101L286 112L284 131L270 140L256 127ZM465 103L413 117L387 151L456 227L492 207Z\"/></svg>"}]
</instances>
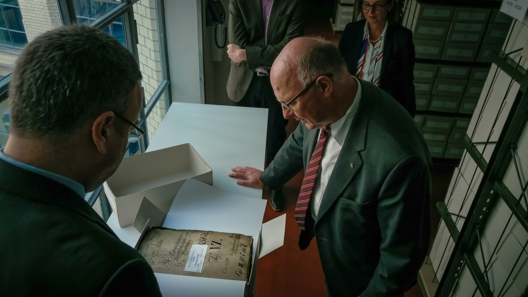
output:
<instances>
[{"instance_id":1,"label":"open empty white archival box tilted on the table","mask_svg":"<svg viewBox=\"0 0 528 297\"><path fill-rule=\"evenodd\" d=\"M105 193L119 226L125 227L134 222L143 196L167 214L187 178L212 186L212 172L200 154L184 143L124 158L105 182Z\"/></svg>"}]
</instances>

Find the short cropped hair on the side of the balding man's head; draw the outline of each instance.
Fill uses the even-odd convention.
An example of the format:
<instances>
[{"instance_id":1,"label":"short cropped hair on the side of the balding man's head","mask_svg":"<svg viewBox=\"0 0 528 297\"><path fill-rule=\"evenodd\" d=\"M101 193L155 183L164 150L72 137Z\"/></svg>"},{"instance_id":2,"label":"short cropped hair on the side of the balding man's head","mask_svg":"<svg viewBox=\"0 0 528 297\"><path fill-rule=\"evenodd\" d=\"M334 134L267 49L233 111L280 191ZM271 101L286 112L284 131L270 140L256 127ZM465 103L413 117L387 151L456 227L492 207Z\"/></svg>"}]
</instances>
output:
<instances>
[{"instance_id":1,"label":"short cropped hair on the side of the balding man's head","mask_svg":"<svg viewBox=\"0 0 528 297\"><path fill-rule=\"evenodd\" d=\"M350 75L346 61L335 45L321 37L312 38L315 42L298 56L297 80L303 87L327 73L332 73L337 80Z\"/></svg>"}]
</instances>

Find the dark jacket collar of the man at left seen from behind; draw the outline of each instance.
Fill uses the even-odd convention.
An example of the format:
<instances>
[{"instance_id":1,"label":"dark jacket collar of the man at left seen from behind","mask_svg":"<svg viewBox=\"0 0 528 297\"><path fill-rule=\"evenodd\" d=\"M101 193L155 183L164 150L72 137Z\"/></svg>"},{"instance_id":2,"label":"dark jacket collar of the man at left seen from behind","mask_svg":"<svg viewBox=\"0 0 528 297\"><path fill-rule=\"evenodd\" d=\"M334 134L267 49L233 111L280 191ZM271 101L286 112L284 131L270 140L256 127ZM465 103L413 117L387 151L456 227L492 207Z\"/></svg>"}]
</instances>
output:
<instances>
[{"instance_id":1,"label":"dark jacket collar of the man at left seen from behind","mask_svg":"<svg viewBox=\"0 0 528 297\"><path fill-rule=\"evenodd\" d=\"M116 236L95 210L84 201L84 197L79 196L74 190L2 159L0 159L0 189L39 203L52 204L76 212Z\"/></svg>"}]
</instances>

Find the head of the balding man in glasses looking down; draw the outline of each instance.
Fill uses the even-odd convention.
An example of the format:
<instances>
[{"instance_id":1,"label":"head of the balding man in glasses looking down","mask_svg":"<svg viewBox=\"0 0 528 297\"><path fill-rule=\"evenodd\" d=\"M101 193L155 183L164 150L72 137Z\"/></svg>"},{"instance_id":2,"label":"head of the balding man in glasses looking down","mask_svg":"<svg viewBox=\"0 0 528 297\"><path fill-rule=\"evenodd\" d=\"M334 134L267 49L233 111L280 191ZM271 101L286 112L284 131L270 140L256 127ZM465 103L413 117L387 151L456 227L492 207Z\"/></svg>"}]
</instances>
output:
<instances>
[{"instance_id":1,"label":"head of the balding man in glasses looking down","mask_svg":"<svg viewBox=\"0 0 528 297\"><path fill-rule=\"evenodd\" d=\"M337 47L314 37L286 44L271 67L270 80L275 97L284 103L284 117L295 117L308 129L340 119L357 91Z\"/></svg>"}]
</instances>

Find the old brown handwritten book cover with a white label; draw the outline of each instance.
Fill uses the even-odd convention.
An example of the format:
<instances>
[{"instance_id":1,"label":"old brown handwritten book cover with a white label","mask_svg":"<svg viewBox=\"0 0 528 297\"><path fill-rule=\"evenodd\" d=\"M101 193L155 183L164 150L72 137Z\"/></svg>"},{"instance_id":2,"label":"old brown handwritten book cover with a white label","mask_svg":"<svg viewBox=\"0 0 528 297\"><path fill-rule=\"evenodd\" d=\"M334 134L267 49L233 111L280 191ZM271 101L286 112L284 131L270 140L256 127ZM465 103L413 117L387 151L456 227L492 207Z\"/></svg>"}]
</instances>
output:
<instances>
[{"instance_id":1,"label":"old brown handwritten book cover with a white label","mask_svg":"<svg viewBox=\"0 0 528 297\"><path fill-rule=\"evenodd\" d=\"M154 272L247 281L253 237L152 227L138 252Z\"/></svg>"}]
</instances>

